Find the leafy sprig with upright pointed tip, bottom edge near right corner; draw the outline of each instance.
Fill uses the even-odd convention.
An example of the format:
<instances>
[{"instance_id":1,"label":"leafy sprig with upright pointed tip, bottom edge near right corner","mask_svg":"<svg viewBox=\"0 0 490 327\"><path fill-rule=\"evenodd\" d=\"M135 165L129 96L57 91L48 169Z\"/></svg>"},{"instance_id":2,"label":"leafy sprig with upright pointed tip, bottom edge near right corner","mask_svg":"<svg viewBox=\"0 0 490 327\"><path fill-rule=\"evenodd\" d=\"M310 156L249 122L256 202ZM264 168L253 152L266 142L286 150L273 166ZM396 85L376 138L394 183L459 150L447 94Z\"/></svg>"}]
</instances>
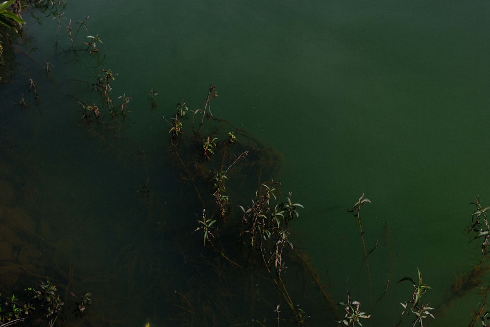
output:
<instances>
[{"instance_id":1,"label":"leafy sprig with upright pointed tip, bottom edge near right corner","mask_svg":"<svg viewBox=\"0 0 490 327\"><path fill-rule=\"evenodd\" d=\"M430 312L430 310L434 310L434 308L430 307L428 304L422 303L422 296L430 289L430 286L426 285L422 281L422 275L420 274L420 270L417 268L418 272L418 280L417 282L410 277L403 277L398 280L398 282L402 282L405 280L411 281L414 285L414 292L412 293L412 298L405 303L400 303L403 306L402 316L407 313L410 316L410 313L413 313L416 316L416 319L412 323L412 326L420 323L420 327L423 327L422 320L427 317L432 317L435 319L434 315ZM401 320L401 318L400 318Z\"/></svg>"}]
</instances>

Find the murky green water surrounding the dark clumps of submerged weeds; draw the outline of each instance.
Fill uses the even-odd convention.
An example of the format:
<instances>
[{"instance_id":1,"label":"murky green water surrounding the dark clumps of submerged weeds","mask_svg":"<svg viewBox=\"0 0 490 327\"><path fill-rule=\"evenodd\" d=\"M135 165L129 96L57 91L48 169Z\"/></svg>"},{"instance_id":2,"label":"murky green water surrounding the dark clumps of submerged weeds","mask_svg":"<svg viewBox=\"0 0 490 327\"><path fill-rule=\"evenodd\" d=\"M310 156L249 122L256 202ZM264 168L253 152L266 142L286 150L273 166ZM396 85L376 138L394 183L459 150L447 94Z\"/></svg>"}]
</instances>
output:
<instances>
[{"instance_id":1,"label":"murky green water surrounding the dark clumps of submerged weeds","mask_svg":"<svg viewBox=\"0 0 490 327\"><path fill-rule=\"evenodd\" d=\"M214 84L213 114L283 155L274 179L305 206L292 242L336 302L349 290L372 314L364 326L394 326L412 291L396 281L416 278L418 267L433 288L424 300L437 309L424 326L467 326L483 301L478 290L442 303L481 257L481 242L466 233L467 203L477 195L490 202L489 9L487 1L71 1L57 48L56 20L38 25L26 15L32 39L17 47L19 67L0 102L1 179L15 188L2 202L2 224L21 216L12 208L31 217L19 238L38 242L49 260L31 255L23 264L56 262L47 272L66 283L73 262L76 291L94 294L98 319L87 325L171 325L175 291L194 285L175 244L200 241L191 232L201 208L172 170L162 116L182 100L198 108ZM98 34L100 53L64 52L68 20L86 16L78 42ZM54 65L49 76L45 59ZM129 123L102 136L80 123L71 96L97 101L91 84L101 68L118 73L115 94L131 97ZM13 103L23 93L28 109ZM137 192L143 183L150 199ZM359 227L345 210L363 193L372 202L362 211L368 250L378 241L370 291ZM16 242L12 252L22 249ZM488 276L481 281L485 288ZM242 303L228 304L240 312ZM320 309L302 308L307 326L335 326Z\"/></svg>"}]
</instances>

